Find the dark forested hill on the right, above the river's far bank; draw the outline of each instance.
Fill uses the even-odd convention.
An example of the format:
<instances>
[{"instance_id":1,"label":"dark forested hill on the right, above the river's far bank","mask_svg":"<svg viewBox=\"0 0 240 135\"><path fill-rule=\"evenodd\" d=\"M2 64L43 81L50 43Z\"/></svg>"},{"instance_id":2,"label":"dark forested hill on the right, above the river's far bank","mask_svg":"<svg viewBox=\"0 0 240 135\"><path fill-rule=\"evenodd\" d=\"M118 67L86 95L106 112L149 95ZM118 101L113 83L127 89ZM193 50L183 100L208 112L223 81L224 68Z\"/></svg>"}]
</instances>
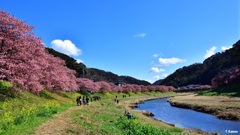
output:
<instances>
[{"instance_id":1,"label":"dark forested hill on the right, above the river's far bank","mask_svg":"<svg viewBox=\"0 0 240 135\"><path fill-rule=\"evenodd\" d=\"M196 63L176 70L162 80L160 85L174 87L189 84L211 85L211 80L222 72L240 67L240 40L229 50L207 58L203 63ZM156 82L155 82L156 83Z\"/></svg>"}]
</instances>

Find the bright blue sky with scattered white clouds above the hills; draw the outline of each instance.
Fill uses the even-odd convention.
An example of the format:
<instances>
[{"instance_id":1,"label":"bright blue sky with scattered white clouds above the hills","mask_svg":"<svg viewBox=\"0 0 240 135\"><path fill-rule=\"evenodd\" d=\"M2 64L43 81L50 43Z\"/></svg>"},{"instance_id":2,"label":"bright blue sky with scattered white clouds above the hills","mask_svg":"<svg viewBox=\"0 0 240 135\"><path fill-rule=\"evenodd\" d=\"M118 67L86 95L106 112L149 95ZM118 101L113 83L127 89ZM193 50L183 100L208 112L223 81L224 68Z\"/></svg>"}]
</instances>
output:
<instances>
[{"instance_id":1,"label":"bright blue sky with scattered white clouds above the hills","mask_svg":"<svg viewBox=\"0 0 240 135\"><path fill-rule=\"evenodd\" d=\"M1 0L0 9L87 67L149 82L240 38L238 0Z\"/></svg>"}]
</instances>

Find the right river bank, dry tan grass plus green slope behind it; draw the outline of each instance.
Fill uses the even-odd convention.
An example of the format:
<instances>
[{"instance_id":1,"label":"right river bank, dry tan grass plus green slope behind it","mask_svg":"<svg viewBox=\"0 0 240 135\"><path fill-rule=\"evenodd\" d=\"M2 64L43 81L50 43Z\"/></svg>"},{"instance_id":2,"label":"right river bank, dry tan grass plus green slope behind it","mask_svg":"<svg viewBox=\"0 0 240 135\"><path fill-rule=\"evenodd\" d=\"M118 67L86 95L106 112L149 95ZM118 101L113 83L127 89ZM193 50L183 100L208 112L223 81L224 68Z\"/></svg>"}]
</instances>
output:
<instances>
[{"instance_id":1,"label":"right river bank, dry tan grass plus green slope behind it","mask_svg":"<svg viewBox=\"0 0 240 135\"><path fill-rule=\"evenodd\" d=\"M210 113L221 119L240 120L240 85L219 86L192 95L176 96L170 99L170 103Z\"/></svg>"}]
</instances>

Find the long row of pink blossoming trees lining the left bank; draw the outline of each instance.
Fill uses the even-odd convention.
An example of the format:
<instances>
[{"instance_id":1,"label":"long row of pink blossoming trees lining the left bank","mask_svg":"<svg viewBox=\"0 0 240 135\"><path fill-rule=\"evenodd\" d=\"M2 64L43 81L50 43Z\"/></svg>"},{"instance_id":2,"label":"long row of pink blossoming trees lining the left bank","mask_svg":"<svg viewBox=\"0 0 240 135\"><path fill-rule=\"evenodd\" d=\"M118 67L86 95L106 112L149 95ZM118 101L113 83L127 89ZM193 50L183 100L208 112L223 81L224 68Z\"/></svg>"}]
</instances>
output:
<instances>
[{"instance_id":1,"label":"long row of pink blossoming trees lining the left bank","mask_svg":"<svg viewBox=\"0 0 240 135\"><path fill-rule=\"evenodd\" d=\"M32 30L32 26L0 10L0 78L7 78L15 87L34 93L44 89L92 92L174 90L168 86L134 84L119 87L104 81L76 78L76 72L68 69L63 60L45 51L41 39L35 37Z\"/></svg>"}]
</instances>

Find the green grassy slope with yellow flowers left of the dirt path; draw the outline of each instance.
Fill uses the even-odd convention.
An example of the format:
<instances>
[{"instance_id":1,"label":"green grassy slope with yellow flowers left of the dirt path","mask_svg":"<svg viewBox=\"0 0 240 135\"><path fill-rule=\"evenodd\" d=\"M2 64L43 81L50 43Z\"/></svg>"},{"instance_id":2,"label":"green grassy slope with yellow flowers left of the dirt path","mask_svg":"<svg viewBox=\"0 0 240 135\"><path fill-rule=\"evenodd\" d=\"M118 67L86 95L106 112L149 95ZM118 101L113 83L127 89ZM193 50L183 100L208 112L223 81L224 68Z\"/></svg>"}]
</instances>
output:
<instances>
[{"instance_id":1,"label":"green grassy slope with yellow flowers left of the dirt path","mask_svg":"<svg viewBox=\"0 0 240 135\"><path fill-rule=\"evenodd\" d=\"M77 95L48 91L35 95L23 91L14 98L5 96L0 101L0 134L33 134L36 127L51 116L75 105L73 99Z\"/></svg>"}]
</instances>

